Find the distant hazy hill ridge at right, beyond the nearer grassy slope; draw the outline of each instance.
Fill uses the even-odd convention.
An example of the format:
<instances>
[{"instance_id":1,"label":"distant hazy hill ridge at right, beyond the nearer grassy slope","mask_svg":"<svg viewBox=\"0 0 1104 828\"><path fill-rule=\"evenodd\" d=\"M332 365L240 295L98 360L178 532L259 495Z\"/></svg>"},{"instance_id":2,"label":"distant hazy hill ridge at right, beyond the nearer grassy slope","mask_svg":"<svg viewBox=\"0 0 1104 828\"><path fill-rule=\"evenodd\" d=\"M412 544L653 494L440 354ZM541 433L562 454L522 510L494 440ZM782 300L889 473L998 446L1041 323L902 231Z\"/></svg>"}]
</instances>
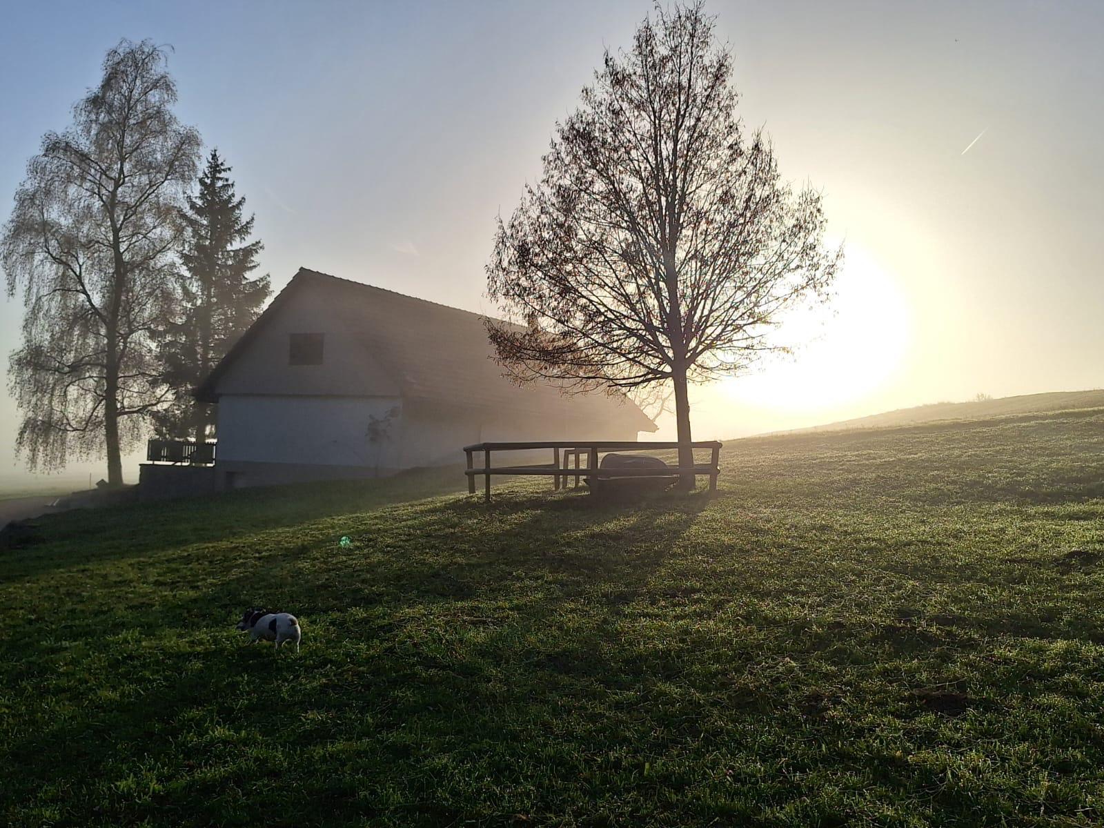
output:
<instances>
[{"instance_id":1,"label":"distant hazy hill ridge at right, beyond the nearer grassy slope","mask_svg":"<svg viewBox=\"0 0 1104 828\"><path fill-rule=\"evenodd\" d=\"M985 420L1010 414L1043 414L1054 411L1104 407L1104 390L1054 391L1044 394L1022 394L1002 396L997 400L976 400L965 403L932 403L912 408L896 408L881 414L870 414L853 420L796 428L786 434L799 432L840 431L843 428L882 428L887 426L914 425L938 420Z\"/></svg>"}]
</instances>

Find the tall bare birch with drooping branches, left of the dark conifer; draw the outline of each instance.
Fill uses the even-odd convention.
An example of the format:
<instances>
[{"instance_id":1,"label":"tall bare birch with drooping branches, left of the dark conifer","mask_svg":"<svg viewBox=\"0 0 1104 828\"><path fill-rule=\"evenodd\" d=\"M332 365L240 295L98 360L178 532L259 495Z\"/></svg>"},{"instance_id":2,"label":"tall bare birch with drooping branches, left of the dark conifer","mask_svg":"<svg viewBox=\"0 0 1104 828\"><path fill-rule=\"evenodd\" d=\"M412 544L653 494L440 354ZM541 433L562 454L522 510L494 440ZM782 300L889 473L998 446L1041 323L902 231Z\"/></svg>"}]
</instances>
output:
<instances>
[{"instance_id":1,"label":"tall bare birch with drooping branches, left of the dark conifer","mask_svg":"<svg viewBox=\"0 0 1104 828\"><path fill-rule=\"evenodd\" d=\"M151 333L171 301L171 252L200 149L176 99L164 50L121 41L15 193L0 263L8 295L21 290L25 306L9 381L32 468L102 452L108 481L121 484L121 452L168 394Z\"/></svg>"}]
</instances>

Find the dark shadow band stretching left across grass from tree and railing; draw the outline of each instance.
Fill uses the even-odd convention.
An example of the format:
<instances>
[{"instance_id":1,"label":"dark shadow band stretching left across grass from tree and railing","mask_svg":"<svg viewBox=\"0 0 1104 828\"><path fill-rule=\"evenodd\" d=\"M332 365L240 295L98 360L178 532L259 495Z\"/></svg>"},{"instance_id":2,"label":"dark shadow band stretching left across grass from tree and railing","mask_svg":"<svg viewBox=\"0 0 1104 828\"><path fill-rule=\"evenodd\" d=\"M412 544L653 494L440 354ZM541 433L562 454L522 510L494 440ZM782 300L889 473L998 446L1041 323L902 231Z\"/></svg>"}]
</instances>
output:
<instances>
[{"instance_id":1,"label":"dark shadow band stretching left across grass from tree and railing","mask_svg":"<svg viewBox=\"0 0 1104 828\"><path fill-rule=\"evenodd\" d=\"M704 493L615 506L516 492L493 509L448 499L350 516L338 524L353 539L348 549L336 542L338 521L322 518L258 549L136 552L123 569L28 584L20 609L38 635L21 637L17 655L33 661L59 640L131 629L219 627L246 606L338 619L381 606L450 612L501 595L512 595L514 613L580 598L624 603L709 502ZM520 597L519 580L533 584Z\"/></svg>"}]
</instances>

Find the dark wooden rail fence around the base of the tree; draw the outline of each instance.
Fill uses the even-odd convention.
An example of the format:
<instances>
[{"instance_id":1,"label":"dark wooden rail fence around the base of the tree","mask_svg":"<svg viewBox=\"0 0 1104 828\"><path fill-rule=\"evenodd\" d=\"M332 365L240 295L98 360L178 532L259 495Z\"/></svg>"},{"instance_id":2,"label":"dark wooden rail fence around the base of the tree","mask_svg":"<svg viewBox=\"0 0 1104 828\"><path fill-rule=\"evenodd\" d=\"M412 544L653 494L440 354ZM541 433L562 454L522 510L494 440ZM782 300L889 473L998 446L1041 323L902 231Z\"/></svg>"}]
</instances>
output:
<instances>
[{"instance_id":1,"label":"dark wooden rail fence around the base of the tree","mask_svg":"<svg viewBox=\"0 0 1104 828\"><path fill-rule=\"evenodd\" d=\"M694 464L692 466L668 466L666 469L654 468L599 468L598 454L606 452L646 452L678 448L678 443L636 443L630 440L551 440L548 443L477 443L464 447L467 456L468 467L465 475L468 477L468 491L475 493L476 477L484 478L484 498L490 501L490 478L492 475L534 475L548 476L552 478L552 488L560 489L567 486L567 478L575 478L575 487L578 487L581 478L614 478L614 477L667 477L678 475L702 475L709 476L709 490L716 491L716 476L721 471L721 446L718 440L703 440L691 443L691 448L711 449L712 456L709 464ZM552 449L552 463L548 465L528 466L491 466L490 456L492 452L531 452L534 449ZM475 455L481 452L484 455L482 468L475 468ZM563 466L560 465L561 452L563 452ZM586 455L587 465L580 466L581 457ZM569 457L575 458L575 467L569 464Z\"/></svg>"}]
</instances>

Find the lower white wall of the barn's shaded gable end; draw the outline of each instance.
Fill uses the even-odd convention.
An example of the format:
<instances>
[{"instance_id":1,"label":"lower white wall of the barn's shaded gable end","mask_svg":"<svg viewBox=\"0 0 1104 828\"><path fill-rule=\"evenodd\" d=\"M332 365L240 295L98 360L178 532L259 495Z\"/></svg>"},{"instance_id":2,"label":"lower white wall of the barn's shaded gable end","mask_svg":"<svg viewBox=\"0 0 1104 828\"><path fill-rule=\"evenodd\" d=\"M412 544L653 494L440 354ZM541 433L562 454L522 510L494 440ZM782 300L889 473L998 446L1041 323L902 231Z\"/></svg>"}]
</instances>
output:
<instances>
[{"instance_id":1,"label":"lower white wall of the barn's shaded gable end","mask_svg":"<svg viewBox=\"0 0 1104 828\"><path fill-rule=\"evenodd\" d=\"M223 394L217 459L394 468L402 416L393 421L393 438L379 446L367 431L370 417L396 405L399 397Z\"/></svg>"}]
</instances>

